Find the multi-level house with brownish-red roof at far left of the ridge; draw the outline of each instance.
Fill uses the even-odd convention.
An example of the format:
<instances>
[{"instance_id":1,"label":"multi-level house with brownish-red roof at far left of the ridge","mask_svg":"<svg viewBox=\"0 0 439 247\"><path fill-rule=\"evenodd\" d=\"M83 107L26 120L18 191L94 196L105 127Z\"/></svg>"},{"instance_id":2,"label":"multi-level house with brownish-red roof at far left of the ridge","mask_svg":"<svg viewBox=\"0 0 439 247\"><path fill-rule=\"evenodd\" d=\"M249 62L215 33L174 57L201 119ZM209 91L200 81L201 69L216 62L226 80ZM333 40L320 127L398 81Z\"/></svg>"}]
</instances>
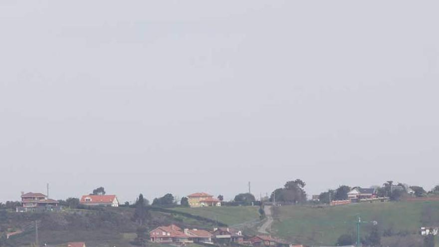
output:
<instances>
[{"instance_id":1,"label":"multi-level house with brownish-red roof at far left of the ridge","mask_svg":"<svg viewBox=\"0 0 439 247\"><path fill-rule=\"evenodd\" d=\"M42 212L42 211L59 211L59 202L47 198L42 193L21 192L21 207L16 208L16 212Z\"/></svg>"}]
</instances>

